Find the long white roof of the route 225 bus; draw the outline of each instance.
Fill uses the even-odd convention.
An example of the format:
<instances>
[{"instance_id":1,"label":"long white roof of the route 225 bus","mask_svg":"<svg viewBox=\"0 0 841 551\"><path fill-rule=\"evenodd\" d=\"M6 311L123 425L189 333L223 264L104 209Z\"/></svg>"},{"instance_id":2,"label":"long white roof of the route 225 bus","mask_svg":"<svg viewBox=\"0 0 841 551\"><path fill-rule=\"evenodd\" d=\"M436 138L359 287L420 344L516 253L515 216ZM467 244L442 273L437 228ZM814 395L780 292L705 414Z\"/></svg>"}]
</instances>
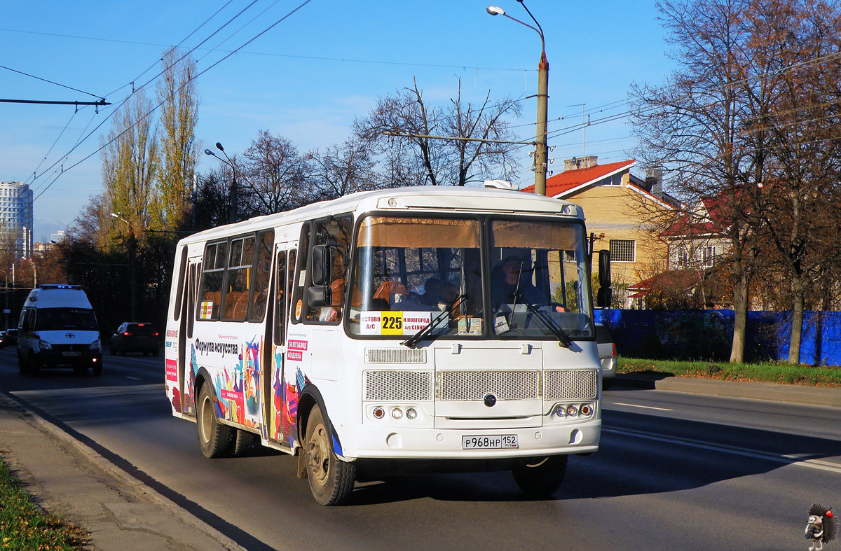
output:
<instances>
[{"instance_id":1,"label":"long white roof of the route 225 bus","mask_svg":"<svg viewBox=\"0 0 841 551\"><path fill-rule=\"evenodd\" d=\"M518 213L584 219L581 207L574 203L533 193L470 186L409 186L373 192L356 192L283 213L249 218L242 222L226 224L189 235L181 239L179 244L198 243L224 235L246 234L329 214L374 210L392 210L395 213L403 213L407 209L427 213Z\"/></svg>"}]
</instances>

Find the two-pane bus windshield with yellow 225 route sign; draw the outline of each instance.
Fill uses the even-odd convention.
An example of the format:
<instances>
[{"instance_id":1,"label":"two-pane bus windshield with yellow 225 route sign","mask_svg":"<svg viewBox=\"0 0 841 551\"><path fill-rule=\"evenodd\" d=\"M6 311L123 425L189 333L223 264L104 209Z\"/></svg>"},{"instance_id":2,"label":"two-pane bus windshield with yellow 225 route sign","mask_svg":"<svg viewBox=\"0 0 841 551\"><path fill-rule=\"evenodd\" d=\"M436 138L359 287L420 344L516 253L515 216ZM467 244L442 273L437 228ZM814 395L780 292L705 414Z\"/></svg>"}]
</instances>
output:
<instances>
[{"instance_id":1,"label":"two-pane bus windshield with yellow 225 route sign","mask_svg":"<svg viewBox=\"0 0 841 551\"><path fill-rule=\"evenodd\" d=\"M405 337L434 323L436 338L592 337L580 223L372 216L356 247L351 333Z\"/></svg>"}]
</instances>

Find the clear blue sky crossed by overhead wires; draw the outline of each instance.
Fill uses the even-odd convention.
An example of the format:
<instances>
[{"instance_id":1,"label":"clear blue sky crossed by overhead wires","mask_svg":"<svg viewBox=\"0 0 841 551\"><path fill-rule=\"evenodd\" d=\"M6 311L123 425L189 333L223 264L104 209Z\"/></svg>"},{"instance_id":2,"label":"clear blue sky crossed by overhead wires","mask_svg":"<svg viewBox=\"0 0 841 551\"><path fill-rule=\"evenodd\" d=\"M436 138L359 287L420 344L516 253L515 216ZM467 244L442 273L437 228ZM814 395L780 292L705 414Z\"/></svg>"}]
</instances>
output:
<instances>
[{"instance_id":1,"label":"clear blue sky crossed by overhead wires","mask_svg":"<svg viewBox=\"0 0 841 551\"><path fill-rule=\"evenodd\" d=\"M155 97L161 55L175 45L195 48L202 150L221 142L229 155L241 152L259 130L282 134L301 152L341 144L354 118L413 79L431 104L454 97L459 79L468 102L488 93L492 102L522 99L522 116L511 123L522 140L534 139L540 37L490 16L489 3L532 23L516 0L3 3L0 98L112 105L0 102L0 181L34 190L36 241L71 226L103 191L98 149L114 108L132 87ZM636 143L622 116L630 86L661 84L674 66L654 2L525 5L546 40L549 170L584 154L600 163L632 159ZM518 155L518 186L533 183L529 149ZM218 162L201 155L198 172Z\"/></svg>"}]
</instances>

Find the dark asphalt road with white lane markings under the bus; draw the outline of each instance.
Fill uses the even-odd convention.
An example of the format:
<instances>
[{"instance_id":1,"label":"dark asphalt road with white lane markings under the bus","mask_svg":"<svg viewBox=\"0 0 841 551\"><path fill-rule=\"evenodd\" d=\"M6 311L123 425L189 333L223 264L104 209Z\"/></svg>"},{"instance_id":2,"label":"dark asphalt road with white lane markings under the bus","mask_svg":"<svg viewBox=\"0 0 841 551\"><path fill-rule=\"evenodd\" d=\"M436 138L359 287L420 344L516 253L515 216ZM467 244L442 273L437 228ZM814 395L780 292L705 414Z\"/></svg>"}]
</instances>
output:
<instances>
[{"instance_id":1,"label":"dark asphalt road with white lane markings under the bus","mask_svg":"<svg viewBox=\"0 0 841 551\"><path fill-rule=\"evenodd\" d=\"M806 549L812 501L841 510L838 408L614 387L600 451L571 458L551 500L485 473L357 484L323 507L285 454L205 459L162 380L140 356L21 377L0 350L0 391L249 549Z\"/></svg>"}]
</instances>

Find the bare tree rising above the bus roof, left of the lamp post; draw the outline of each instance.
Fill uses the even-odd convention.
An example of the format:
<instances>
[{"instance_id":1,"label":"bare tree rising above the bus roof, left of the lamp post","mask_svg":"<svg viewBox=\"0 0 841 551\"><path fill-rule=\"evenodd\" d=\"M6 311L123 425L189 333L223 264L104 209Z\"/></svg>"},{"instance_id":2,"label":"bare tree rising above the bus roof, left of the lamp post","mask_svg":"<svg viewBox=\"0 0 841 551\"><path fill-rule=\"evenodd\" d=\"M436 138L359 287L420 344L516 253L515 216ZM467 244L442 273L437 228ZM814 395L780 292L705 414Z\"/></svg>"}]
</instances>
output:
<instances>
[{"instance_id":1,"label":"bare tree rising above the bus roof, left of the lamp post","mask_svg":"<svg viewBox=\"0 0 841 551\"><path fill-rule=\"evenodd\" d=\"M458 94L447 107L428 106L414 87L382 97L368 117L354 122L354 133L379 157L380 176L388 186L464 186L493 175L516 176L507 117L519 117L521 104L505 98L464 102ZM399 136L390 134L401 134ZM463 139L438 139L444 136Z\"/></svg>"}]
</instances>

